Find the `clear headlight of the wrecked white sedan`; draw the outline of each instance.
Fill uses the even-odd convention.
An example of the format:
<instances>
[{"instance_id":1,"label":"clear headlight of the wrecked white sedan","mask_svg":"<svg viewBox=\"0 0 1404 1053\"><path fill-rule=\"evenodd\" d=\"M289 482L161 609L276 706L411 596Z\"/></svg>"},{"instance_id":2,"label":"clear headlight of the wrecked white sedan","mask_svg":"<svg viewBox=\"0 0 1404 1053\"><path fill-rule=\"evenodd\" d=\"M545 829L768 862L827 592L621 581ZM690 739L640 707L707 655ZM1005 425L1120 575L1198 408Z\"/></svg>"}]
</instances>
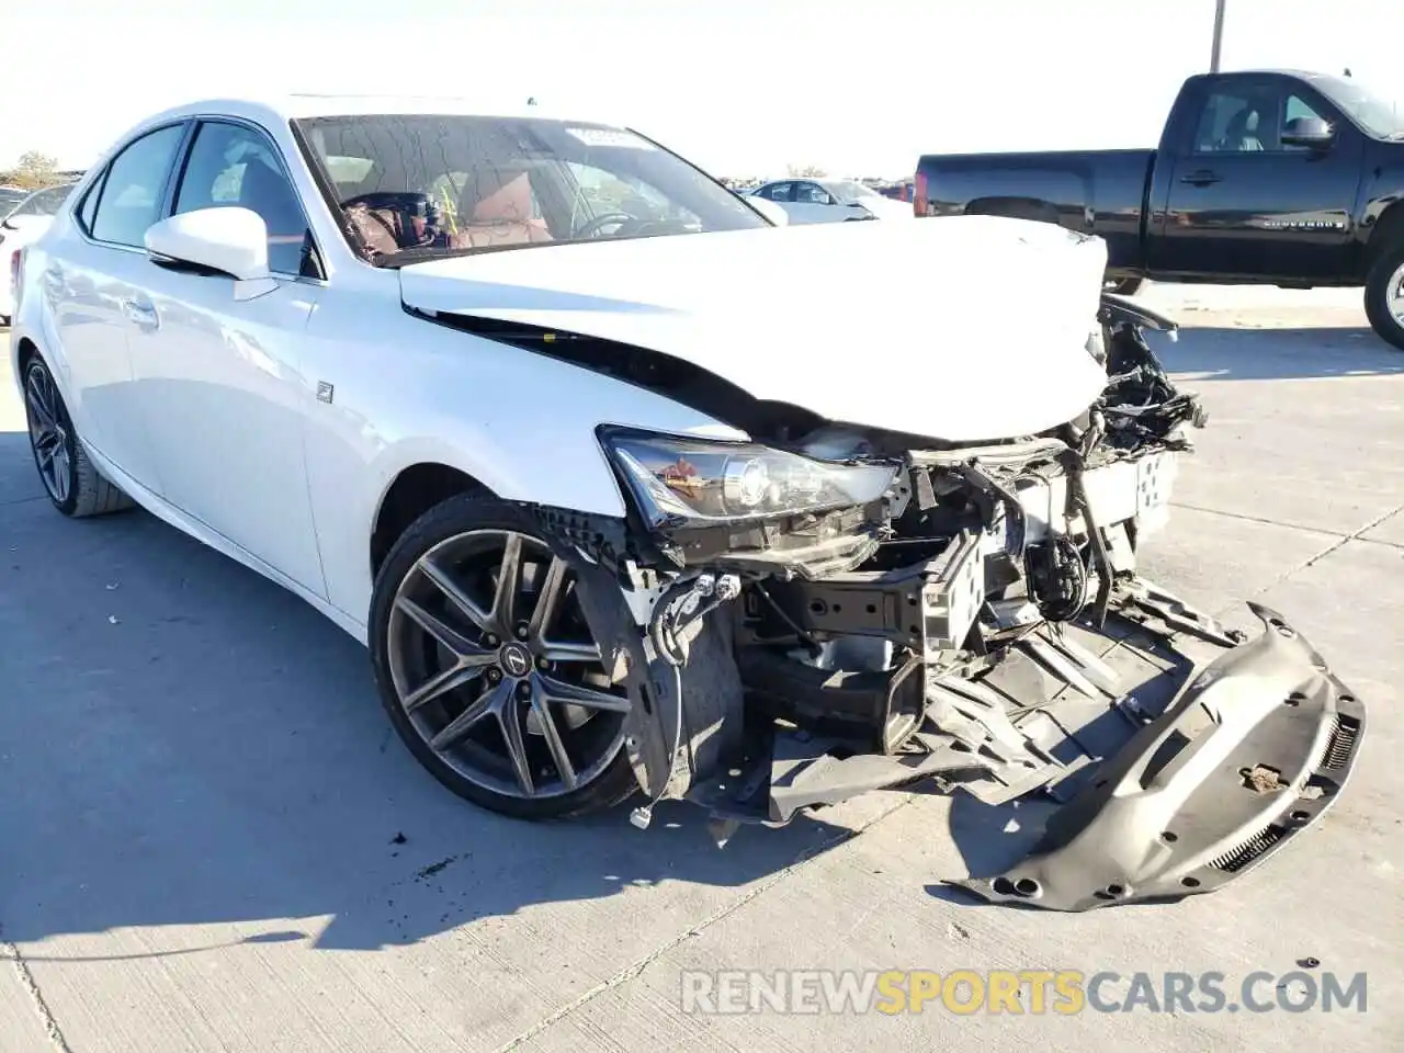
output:
<instances>
[{"instance_id":1,"label":"clear headlight of the wrecked white sedan","mask_svg":"<svg viewBox=\"0 0 1404 1053\"><path fill-rule=\"evenodd\" d=\"M748 442L605 430L601 441L650 525L726 522L876 501L896 465L813 461Z\"/></svg>"}]
</instances>

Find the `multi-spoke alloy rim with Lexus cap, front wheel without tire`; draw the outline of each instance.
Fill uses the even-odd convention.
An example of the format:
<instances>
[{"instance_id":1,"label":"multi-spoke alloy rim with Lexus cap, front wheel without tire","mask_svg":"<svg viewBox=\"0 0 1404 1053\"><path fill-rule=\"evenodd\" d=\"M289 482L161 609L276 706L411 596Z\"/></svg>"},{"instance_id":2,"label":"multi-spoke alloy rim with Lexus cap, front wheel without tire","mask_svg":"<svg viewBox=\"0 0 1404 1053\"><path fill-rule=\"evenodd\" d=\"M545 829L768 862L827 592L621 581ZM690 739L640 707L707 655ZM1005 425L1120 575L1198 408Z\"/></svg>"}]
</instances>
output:
<instances>
[{"instance_id":1,"label":"multi-spoke alloy rim with Lexus cap, front wheel without tire","mask_svg":"<svg viewBox=\"0 0 1404 1053\"><path fill-rule=\"evenodd\" d=\"M395 592L386 643L396 698L423 741L487 790L570 793L623 744L629 699L576 587L545 542L477 529L420 556Z\"/></svg>"}]
</instances>

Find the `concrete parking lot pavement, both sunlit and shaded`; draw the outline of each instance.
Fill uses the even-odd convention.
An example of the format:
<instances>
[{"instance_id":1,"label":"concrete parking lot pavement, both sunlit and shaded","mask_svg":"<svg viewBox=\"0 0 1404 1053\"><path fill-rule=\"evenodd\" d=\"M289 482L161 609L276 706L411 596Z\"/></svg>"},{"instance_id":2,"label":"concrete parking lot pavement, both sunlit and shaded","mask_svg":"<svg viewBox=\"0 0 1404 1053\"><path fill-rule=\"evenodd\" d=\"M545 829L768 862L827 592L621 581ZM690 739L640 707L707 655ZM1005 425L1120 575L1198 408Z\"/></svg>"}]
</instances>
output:
<instances>
[{"instance_id":1,"label":"concrete parking lot pavement, both sunlit and shaded","mask_svg":"<svg viewBox=\"0 0 1404 1053\"><path fill-rule=\"evenodd\" d=\"M365 653L145 512L69 522L0 385L0 1050L1398 1049L1404 354L1359 293L1153 288L1210 414L1147 573L1259 600L1369 708L1339 806L1220 894L1064 915L939 886L1018 810L876 793L712 847L702 813L524 826L392 739ZM856 834L856 835L855 835ZM952 835L953 834L953 835ZM687 969L1369 974L1369 1008L689 1015Z\"/></svg>"}]
</instances>

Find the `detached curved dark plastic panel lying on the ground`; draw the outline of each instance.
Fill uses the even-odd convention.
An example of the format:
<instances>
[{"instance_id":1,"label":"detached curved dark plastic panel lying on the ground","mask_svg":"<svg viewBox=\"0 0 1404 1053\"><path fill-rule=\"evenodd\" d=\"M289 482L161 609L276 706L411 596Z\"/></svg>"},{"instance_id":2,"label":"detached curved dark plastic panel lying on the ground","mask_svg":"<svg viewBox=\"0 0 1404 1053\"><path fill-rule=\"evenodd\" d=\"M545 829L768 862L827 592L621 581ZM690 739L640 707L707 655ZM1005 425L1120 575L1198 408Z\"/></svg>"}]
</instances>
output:
<instances>
[{"instance_id":1,"label":"detached curved dark plastic panel lying on the ground","mask_svg":"<svg viewBox=\"0 0 1404 1053\"><path fill-rule=\"evenodd\" d=\"M1019 865L948 882L990 901L1082 911L1214 892L1335 802L1365 708L1280 615L1199 668L1046 826Z\"/></svg>"}]
</instances>

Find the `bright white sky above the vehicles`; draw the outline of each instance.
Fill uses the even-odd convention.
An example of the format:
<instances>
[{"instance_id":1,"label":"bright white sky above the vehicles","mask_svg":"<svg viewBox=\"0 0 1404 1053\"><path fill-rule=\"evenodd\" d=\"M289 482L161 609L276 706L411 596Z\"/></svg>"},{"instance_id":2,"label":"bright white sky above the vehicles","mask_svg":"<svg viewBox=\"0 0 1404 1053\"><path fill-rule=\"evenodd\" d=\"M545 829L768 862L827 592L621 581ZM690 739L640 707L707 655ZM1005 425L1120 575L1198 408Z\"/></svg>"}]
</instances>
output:
<instances>
[{"instance_id":1,"label":"bright white sky above the vehicles","mask_svg":"<svg viewBox=\"0 0 1404 1053\"><path fill-rule=\"evenodd\" d=\"M484 91L619 119L716 174L908 173L922 152L1151 146L1213 0L6 0L0 166L86 167L167 105ZM1227 0L1223 67L1404 98L1400 0Z\"/></svg>"}]
</instances>

